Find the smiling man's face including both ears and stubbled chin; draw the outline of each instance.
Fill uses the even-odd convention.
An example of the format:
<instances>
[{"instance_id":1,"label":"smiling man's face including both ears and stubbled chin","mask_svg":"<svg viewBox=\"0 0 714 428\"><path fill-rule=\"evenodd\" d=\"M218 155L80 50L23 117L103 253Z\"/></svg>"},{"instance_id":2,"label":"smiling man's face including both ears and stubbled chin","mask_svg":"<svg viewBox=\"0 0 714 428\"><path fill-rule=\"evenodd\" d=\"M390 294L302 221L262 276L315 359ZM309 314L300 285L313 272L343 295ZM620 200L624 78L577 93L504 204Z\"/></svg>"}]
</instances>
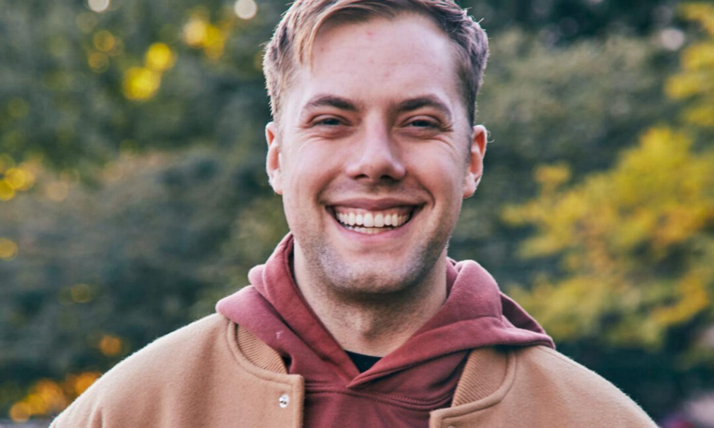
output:
<instances>
[{"instance_id":1,"label":"smiling man's face including both ears and stubbled chin","mask_svg":"<svg viewBox=\"0 0 714 428\"><path fill-rule=\"evenodd\" d=\"M486 148L448 37L413 14L326 26L284 99L267 166L296 270L358 294L423 280L446 258Z\"/></svg>"}]
</instances>

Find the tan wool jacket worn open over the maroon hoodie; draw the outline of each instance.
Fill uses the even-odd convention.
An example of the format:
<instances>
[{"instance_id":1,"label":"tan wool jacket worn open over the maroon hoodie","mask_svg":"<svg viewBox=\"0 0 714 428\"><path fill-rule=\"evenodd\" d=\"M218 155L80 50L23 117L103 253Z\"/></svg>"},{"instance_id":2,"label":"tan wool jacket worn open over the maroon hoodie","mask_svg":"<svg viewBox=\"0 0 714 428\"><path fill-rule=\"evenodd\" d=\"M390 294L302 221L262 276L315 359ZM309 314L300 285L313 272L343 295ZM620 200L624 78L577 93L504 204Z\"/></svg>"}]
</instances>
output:
<instances>
[{"instance_id":1,"label":"tan wool jacket worn open over the maroon hoodie","mask_svg":"<svg viewBox=\"0 0 714 428\"><path fill-rule=\"evenodd\" d=\"M303 392L277 352L210 315L106 372L51 428L301 427ZM598 374L533 346L471 351L452 407L431 412L429 427L656 425Z\"/></svg>"}]
</instances>

